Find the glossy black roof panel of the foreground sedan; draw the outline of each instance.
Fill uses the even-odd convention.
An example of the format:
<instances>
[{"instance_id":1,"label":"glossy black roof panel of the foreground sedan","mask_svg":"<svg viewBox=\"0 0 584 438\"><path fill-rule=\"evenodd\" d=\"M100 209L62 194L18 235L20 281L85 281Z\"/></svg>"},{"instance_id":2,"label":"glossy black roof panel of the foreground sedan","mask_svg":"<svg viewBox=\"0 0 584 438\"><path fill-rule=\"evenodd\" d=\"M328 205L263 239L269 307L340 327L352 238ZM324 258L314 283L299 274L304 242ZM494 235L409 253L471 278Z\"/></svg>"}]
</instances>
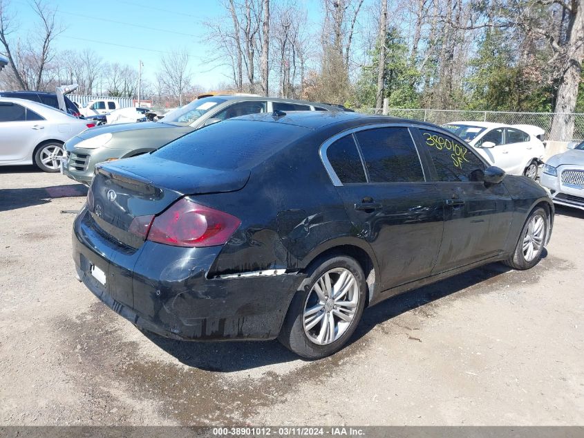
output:
<instances>
[{"instance_id":1,"label":"glossy black roof panel of the foreground sedan","mask_svg":"<svg viewBox=\"0 0 584 438\"><path fill-rule=\"evenodd\" d=\"M361 121L361 125L378 124L378 123L405 123L424 125L432 128L438 128L435 125L420 120L409 120L392 116L370 116L363 113L353 113L346 111L279 111L282 116L276 116L274 113L249 114L225 120L254 120L258 122L283 123L286 125L296 125L309 129L319 129L328 125L337 125L352 120Z\"/></svg>"}]
</instances>

